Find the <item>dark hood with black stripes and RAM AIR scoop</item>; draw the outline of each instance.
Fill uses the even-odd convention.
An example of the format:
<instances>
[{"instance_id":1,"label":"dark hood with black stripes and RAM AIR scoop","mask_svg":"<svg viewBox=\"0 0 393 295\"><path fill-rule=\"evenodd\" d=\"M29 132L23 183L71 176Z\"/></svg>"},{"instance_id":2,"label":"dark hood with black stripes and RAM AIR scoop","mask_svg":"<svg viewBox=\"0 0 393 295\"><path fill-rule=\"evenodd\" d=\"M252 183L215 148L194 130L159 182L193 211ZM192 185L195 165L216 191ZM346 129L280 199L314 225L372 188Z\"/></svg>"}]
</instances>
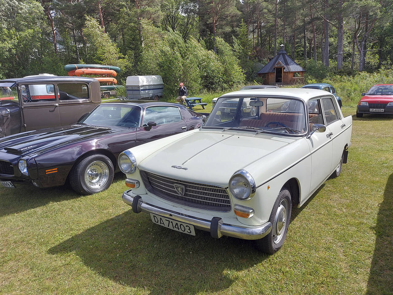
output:
<instances>
[{"instance_id":1,"label":"dark hood with black stripes and RAM AIR scoop","mask_svg":"<svg viewBox=\"0 0 393 295\"><path fill-rule=\"evenodd\" d=\"M35 155L65 144L124 131L124 129L79 124L39 129L1 139L0 152L15 155Z\"/></svg>"}]
</instances>

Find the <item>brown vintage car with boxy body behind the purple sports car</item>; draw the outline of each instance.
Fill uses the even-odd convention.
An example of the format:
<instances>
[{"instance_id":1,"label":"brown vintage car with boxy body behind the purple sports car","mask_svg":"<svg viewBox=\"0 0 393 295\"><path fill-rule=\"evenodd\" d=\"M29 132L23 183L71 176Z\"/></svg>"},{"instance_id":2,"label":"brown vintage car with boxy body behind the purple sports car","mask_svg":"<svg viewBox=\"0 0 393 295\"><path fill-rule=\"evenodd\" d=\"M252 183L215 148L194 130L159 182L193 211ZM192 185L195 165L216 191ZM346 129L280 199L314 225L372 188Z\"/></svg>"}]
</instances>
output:
<instances>
[{"instance_id":1,"label":"brown vintage car with boxy body behind the purple sports car","mask_svg":"<svg viewBox=\"0 0 393 295\"><path fill-rule=\"evenodd\" d=\"M101 103L99 81L37 75L0 80L0 137L77 122Z\"/></svg>"}]
</instances>

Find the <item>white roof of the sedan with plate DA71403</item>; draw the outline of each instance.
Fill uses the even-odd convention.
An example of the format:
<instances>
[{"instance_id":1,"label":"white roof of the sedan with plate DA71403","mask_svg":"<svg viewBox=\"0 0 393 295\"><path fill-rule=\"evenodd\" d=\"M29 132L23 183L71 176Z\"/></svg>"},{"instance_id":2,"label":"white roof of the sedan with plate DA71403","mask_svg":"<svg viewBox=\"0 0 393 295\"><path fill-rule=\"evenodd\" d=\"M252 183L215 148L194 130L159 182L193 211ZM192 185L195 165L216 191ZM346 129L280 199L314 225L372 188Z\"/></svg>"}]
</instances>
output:
<instances>
[{"instance_id":1,"label":"white roof of the sedan with plate DA71403","mask_svg":"<svg viewBox=\"0 0 393 295\"><path fill-rule=\"evenodd\" d=\"M308 101L310 98L317 96L333 96L329 92L320 89L308 88L268 88L261 91L261 89L241 90L226 93L223 96L288 96L291 98L299 98L303 101Z\"/></svg>"}]
</instances>

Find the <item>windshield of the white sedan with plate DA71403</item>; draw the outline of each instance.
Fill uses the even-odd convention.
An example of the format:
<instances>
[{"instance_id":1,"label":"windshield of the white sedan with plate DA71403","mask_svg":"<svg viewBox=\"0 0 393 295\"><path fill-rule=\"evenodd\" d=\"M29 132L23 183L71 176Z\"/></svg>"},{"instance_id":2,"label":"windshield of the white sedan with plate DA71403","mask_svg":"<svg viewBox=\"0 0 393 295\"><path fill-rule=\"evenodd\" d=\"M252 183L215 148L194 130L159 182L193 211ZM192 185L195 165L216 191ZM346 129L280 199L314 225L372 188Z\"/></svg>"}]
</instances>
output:
<instances>
[{"instance_id":1,"label":"windshield of the white sedan with plate DA71403","mask_svg":"<svg viewBox=\"0 0 393 295\"><path fill-rule=\"evenodd\" d=\"M222 97L203 128L298 135L307 131L305 106L292 98Z\"/></svg>"}]
</instances>

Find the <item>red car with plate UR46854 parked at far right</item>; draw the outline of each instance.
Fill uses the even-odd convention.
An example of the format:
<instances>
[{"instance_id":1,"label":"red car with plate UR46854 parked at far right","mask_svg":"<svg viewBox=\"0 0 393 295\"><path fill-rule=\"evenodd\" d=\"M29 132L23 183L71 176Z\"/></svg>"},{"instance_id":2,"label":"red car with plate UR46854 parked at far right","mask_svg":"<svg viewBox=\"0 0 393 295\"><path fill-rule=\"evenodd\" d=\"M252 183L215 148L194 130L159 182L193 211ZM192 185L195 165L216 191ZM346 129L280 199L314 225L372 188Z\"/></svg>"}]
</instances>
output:
<instances>
[{"instance_id":1,"label":"red car with plate UR46854 parked at far right","mask_svg":"<svg viewBox=\"0 0 393 295\"><path fill-rule=\"evenodd\" d=\"M356 108L356 117L374 113L393 114L393 84L374 85L362 96Z\"/></svg>"}]
</instances>

